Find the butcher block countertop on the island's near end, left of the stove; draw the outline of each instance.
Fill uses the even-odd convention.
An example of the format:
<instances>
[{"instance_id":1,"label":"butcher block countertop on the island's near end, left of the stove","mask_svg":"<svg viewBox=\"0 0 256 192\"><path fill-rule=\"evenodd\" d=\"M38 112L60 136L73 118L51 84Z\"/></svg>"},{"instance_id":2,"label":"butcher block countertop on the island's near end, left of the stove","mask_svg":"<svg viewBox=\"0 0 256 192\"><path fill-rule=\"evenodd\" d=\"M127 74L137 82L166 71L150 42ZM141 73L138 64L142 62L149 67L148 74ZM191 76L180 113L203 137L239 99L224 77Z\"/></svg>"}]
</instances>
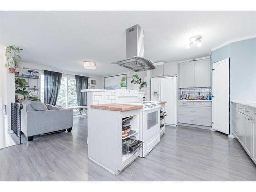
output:
<instances>
[{"instance_id":1,"label":"butcher block countertop on the island's near end, left of the stove","mask_svg":"<svg viewBox=\"0 0 256 192\"><path fill-rule=\"evenodd\" d=\"M142 109L142 105L131 105L131 104L97 104L91 105L91 108L94 109L101 109L101 110L111 110L111 111L130 111L130 110L137 110Z\"/></svg>"}]
</instances>

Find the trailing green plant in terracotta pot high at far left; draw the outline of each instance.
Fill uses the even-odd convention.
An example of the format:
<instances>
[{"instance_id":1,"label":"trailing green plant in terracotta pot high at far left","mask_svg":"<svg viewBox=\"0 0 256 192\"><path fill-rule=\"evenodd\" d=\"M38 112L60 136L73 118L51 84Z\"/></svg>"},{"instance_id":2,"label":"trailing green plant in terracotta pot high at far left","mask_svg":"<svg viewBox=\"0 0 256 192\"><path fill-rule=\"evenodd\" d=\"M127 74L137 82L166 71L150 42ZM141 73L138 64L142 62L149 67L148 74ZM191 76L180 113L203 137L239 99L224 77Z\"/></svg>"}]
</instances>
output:
<instances>
[{"instance_id":1,"label":"trailing green plant in terracotta pot high at far left","mask_svg":"<svg viewBox=\"0 0 256 192\"><path fill-rule=\"evenodd\" d=\"M11 46L9 45L6 48L6 63L5 63L5 67L9 68L9 72L10 73L14 73L15 69L17 70L17 68L20 68L19 63L17 60L15 60L15 52L20 53L20 51L22 51L22 48L16 47L16 46ZM18 58L21 59L21 57L19 55L17 55Z\"/></svg>"}]
</instances>

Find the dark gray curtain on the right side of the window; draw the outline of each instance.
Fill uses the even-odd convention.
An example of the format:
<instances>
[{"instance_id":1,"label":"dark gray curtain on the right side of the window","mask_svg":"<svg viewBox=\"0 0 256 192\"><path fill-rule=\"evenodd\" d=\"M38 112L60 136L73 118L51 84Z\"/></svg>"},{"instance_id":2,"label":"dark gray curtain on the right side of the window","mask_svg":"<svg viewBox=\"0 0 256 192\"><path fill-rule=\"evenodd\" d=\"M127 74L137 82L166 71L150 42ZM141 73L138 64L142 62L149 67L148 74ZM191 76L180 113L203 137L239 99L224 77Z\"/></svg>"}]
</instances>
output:
<instances>
[{"instance_id":1,"label":"dark gray curtain on the right side of the window","mask_svg":"<svg viewBox=\"0 0 256 192\"><path fill-rule=\"evenodd\" d=\"M87 93L81 89L88 88L88 77L76 75L76 96L78 106L87 106Z\"/></svg>"}]
</instances>

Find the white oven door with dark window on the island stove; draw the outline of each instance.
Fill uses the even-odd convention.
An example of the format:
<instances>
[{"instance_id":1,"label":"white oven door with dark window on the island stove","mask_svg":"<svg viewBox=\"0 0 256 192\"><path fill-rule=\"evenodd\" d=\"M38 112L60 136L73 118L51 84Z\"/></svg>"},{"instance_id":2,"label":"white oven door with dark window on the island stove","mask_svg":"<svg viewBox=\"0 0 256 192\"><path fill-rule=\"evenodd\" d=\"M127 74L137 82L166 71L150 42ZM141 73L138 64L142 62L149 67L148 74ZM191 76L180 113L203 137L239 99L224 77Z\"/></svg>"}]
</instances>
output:
<instances>
[{"instance_id":1,"label":"white oven door with dark window on the island stove","mask_svg":"<svg viewBox=\"0 0 256 192\"><path fill-rule=\"evenodd\" d=\"M160 108L161 105L157 105L143 109L143 142L160 132Z\"/></svg>"}]
</instances>

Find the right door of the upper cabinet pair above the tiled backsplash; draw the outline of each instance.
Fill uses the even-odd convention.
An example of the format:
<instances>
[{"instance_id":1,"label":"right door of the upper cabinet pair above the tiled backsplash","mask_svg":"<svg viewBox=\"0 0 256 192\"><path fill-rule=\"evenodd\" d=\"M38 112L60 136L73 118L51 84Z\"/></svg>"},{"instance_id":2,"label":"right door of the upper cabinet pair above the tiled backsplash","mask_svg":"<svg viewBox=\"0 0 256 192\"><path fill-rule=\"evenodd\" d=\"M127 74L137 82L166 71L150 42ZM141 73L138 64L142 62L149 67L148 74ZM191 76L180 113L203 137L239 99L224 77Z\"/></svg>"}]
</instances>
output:
<instances>
[{"instance_id":1,"label":"right door of the upper cabinet pair above the tiled backsplash","mask_svg":"<svg viewBox=\"0 0 256 192\"><path fill-rule=\"evenodd\" d=\"M210 59L195 61L195 86L211 86Z\"/></svg>"}]
</instances>

